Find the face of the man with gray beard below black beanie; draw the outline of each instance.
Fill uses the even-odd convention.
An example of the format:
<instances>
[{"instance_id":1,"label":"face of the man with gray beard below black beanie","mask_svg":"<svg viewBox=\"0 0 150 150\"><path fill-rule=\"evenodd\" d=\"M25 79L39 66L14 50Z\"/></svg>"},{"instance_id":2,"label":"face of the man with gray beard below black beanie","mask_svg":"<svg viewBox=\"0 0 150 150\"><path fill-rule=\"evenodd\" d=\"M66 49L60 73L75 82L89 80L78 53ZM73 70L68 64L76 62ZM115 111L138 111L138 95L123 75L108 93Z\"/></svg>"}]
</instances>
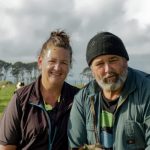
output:
<instances>
[{"instance_id":1,"label":"face of the man with gray beard below black beanie","mask_svg":"<svg viewBox=\"0 0 150 150\"><path fill-rule=\"evenodd\" d=\"M117 55L96 57L91 64L94 78L103 90L116 91L127 78L127 61Z\"/></svg>"}]
</instances>

